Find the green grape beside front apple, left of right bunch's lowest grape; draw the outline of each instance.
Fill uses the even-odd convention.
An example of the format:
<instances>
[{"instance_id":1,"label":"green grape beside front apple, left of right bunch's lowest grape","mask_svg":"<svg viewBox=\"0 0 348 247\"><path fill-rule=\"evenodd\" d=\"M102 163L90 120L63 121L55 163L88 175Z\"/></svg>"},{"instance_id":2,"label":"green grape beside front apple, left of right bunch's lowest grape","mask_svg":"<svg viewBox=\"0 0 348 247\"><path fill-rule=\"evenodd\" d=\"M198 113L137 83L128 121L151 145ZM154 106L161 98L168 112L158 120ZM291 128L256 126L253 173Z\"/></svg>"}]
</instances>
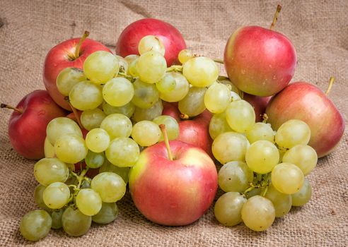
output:
<instances>
[{"instance_id":1,"label":"green grape beside front apple, left of right bunch's lowest grape","mask_svg":"<svg viewBox=\"0 0 348 247\"><path fill-rule=\"evenodd\" d=\"M242 207L246 199L238 192L228 192L216 200L214 215L226 227L233 227L242 222Z\"/></svg>"}]
</instances>

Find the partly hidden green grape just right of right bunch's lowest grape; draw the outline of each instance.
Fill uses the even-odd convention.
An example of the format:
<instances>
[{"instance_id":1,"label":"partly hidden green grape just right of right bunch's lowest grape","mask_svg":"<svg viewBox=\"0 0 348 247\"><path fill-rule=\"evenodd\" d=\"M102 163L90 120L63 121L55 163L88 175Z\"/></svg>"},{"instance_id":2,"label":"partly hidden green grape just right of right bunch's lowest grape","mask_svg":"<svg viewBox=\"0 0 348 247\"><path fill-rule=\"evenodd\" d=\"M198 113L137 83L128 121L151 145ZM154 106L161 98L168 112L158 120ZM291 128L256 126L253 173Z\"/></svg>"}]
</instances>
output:
<instances>
[{"instance_id":1,"label":"partly hidden green grape just right of right bunch's lowest grape","mask_svg":"<svg viewBox=\"0 0 348 247\"><path fill-rule=\"evenodd\" d=\"M277 191L272 184L268 186L265 198L273 203L276 217L282 217L291 210L291 195Z\"/></svg>"}]
</instances>

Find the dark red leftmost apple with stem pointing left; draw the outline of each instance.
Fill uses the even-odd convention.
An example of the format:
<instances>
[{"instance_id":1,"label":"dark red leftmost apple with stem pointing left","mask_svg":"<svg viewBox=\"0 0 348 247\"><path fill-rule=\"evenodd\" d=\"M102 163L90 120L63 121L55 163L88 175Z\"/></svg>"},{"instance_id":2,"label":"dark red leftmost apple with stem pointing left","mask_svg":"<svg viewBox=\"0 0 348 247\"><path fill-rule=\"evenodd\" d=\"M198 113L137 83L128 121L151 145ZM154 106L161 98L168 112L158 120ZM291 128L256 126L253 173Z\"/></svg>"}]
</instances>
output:
<instances>
[{"instance_id":1,"label":"dark red leftmost apple with stem pointing left","mask_svg":"<svg viewBox=\"0 0 348 247\"><path fill-rule=\"evenodd\" d=\"M1 107L8 106L1 104ZM42 159L45 157L47 124L65 115L64 109L52 100L46 90L30 92L17 104L8 123L12 147L27 159Z\"/></svg>"}]
</instances>

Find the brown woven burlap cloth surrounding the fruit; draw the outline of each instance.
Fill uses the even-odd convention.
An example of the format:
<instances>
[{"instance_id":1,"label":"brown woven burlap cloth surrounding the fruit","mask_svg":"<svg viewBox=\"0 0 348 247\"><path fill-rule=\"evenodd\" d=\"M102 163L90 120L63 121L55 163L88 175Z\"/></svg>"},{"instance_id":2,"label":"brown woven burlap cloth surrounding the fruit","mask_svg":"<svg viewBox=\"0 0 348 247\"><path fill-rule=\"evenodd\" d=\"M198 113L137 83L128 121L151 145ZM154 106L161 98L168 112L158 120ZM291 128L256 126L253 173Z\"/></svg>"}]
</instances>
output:
<instances>
[{"instance_id":1,"label":"brown woven burlap cloth surrounding the fruit","mask_svg":"<svg viewBox=\"0 0 348 247\"><path fill-rule=\"evenodd\" d=\"M293 80L325 90L337 78L330 98L347 121L348 1L284 1L276 29L296 47ZM222 58L229 35L240 25L268 27L277 1L5 1L0 0L1 102L16 104L28 92L43 89L42 63L55 44L91 32L114 50L118 35L134 20L154 17L175 25L195 52ZM25 245L21 217L36 208L34 162L19 157L8 141L11 112L0 118L0 246ZM325 119L323 119L325 121ZM330 131L330 130L327 130ZM243 224L226 228L212 210L187 227L161 227L144 219L127 194L120 217L108 226L70 238L51 231L37 246L348 246L347 131L332 155L320 159L309 179L313 198L262 233Z\"/></svg>"}]
</instances>

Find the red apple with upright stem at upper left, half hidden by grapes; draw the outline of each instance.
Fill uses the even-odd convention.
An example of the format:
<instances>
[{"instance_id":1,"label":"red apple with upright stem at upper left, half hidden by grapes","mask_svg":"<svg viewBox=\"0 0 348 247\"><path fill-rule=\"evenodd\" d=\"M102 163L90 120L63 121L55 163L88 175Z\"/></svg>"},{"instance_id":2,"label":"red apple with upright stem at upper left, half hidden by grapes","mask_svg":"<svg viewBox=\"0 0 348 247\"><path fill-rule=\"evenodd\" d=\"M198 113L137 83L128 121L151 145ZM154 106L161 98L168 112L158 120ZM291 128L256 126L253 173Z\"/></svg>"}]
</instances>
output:
<instances>
[{"instance_id":1,"label":"red apple with upright stem at upper left, half hidden by grapes","mask_svg":"<svg viewBox=\"0 0 348 247\"><path fill-rule=\"evenodd\" d=\"M108 47L96 42L95 40L86 39L82 42L79 56L75 55L76 47L79 44L80 38L66 40L53 47L48 52L43 66L43 81L47 91L50 93L52 99L63 107L71 111L69 104L64 100L64 96L58 91L56 80L60 71L64 68L75 67L83 68L83 62L93 52L107 51Z\"/></svg>"}]
</instances>

